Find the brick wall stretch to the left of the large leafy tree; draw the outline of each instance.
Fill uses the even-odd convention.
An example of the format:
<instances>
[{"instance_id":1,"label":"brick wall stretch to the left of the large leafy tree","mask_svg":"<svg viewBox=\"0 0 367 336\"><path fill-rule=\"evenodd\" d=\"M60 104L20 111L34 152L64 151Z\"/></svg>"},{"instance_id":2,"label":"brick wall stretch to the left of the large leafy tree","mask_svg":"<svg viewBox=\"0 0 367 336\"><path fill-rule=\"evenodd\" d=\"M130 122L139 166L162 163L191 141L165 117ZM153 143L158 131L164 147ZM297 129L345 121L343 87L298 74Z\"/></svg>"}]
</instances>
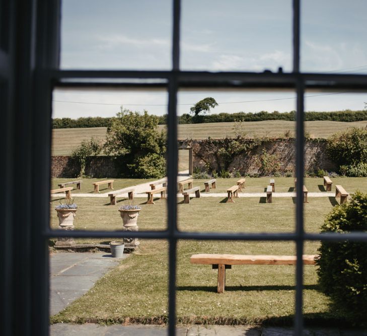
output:
<instances>
[{"instance_id":1,"label":"brick wall stretch to the left of the large leafy tree","mask_svg":"<svg viewBox=\"0 0 367 336\"><path fill-rule=\"evenodd\" d=\"M51 177L74 178L79 175L80 165L69 156L51 157ZM92 177L116 177L114 159L107 156L95 156L87 159L86 175Z\"/></svg>"}]
</instances>

